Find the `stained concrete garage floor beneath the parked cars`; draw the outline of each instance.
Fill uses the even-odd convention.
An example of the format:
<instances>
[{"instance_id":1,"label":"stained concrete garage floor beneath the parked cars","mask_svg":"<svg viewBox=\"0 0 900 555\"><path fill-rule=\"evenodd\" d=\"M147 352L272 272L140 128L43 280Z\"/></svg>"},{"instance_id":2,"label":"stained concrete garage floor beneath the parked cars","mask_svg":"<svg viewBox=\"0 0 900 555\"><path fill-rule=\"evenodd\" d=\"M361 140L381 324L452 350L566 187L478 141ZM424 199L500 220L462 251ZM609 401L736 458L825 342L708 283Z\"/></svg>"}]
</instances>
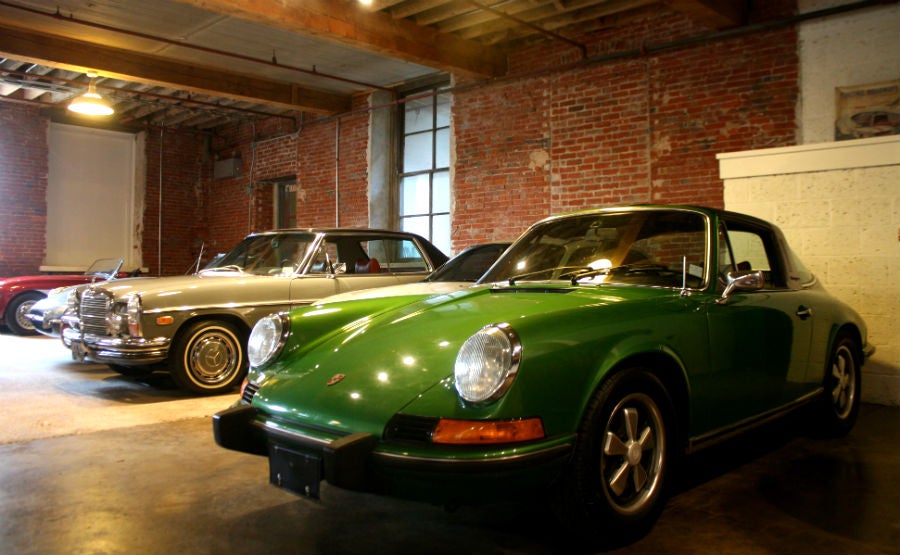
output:
<instances>
[{"instance_id":1,"label":"stained concrete garage floor beneath the parked cars","mask_svg":"<svg viewBox=\"0 0 900 555\"><path fill-rule=\"evenodd\" d=\"M440 507L267 482L219 448L192 398L0 334L0 553L560 553L541 504ZM864 405L844 439L791 418L688 460L644 538L612 553L900 552L900 407Z\"/></svg>"}]
</instances>

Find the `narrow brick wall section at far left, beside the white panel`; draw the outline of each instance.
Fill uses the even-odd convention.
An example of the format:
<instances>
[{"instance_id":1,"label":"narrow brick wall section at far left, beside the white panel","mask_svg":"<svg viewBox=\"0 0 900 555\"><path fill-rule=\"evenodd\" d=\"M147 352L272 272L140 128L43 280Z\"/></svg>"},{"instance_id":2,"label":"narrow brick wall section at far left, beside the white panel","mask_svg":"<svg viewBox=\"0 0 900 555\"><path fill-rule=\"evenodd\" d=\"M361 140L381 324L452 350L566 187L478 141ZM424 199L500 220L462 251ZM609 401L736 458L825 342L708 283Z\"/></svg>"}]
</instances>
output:
<instances>
[{"instance_id":1,"label":"narrow brick wall section at far left, beside the white panel","mask_svg":"<svg viewBox=\"0 0 900 555\"><path fill-rule=\"evenodd\" d=\"M36 108L0 103L0 277L36 274L44 260L48 134Z\"/></svg>"}]
</instances>

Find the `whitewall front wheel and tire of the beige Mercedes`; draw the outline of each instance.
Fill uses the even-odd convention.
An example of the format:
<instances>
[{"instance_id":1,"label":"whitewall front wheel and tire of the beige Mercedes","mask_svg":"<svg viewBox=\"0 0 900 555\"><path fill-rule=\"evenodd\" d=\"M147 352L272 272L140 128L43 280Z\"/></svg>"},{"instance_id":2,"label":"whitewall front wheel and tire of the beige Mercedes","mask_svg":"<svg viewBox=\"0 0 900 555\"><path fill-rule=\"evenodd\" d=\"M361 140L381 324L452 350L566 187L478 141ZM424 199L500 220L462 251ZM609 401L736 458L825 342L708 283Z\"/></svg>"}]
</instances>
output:
<instances>
[{"instance_id":1,"label":"whitewall front wheel and tire of the beige Mercedes","mask_svg":"<svg viewBox=\"0 0 900 555\"><path fill-rule=\"evenodd\" d=\"M182 389L213 395L235 388L247 374L246 334L228 322L194 322L178 332L169 372Z\"/></svg>"}]
</instances>

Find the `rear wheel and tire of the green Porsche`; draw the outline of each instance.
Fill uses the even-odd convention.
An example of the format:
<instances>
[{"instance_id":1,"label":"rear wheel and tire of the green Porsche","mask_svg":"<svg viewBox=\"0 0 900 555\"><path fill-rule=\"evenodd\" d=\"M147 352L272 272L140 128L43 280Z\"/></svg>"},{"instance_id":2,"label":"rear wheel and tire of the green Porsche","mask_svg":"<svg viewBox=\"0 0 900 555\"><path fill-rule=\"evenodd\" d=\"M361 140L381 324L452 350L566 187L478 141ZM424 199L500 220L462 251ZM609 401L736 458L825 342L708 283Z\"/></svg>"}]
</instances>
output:
<instances>
[{"instance_id":1,"label":"rear wheel and tire of the green Porsche","mask_svg":"<svg viewBox=\"0 0 900 555\"><path fill-rule=\"evenodd\" d=\"M823 432L830 437L847 435L856 424L862 393L859 346L848 336L838 336L825 368L821 413Z\"/></svg>"}]
</instances>

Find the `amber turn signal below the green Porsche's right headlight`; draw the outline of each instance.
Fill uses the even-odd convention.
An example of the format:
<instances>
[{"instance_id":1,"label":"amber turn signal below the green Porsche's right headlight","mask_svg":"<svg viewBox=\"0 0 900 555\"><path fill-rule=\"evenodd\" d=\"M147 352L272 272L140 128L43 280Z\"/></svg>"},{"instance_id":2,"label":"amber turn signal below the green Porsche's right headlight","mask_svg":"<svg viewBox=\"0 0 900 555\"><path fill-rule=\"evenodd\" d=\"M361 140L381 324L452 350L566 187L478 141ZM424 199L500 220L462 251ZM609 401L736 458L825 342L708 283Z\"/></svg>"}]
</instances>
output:
<instances>
[{"instance_id":1,"label":"amber turn signal below the green Porsche's right headlight","mask_svg":"<svg viewBox=\"0 0 900 555\"><path fill-rule=\"evenodd\" d=\"M540 418L519 420L452 420L442 418L432 433L434 443L476 445L519 443L544 437Z\"/></svg>"}]
</instances>

